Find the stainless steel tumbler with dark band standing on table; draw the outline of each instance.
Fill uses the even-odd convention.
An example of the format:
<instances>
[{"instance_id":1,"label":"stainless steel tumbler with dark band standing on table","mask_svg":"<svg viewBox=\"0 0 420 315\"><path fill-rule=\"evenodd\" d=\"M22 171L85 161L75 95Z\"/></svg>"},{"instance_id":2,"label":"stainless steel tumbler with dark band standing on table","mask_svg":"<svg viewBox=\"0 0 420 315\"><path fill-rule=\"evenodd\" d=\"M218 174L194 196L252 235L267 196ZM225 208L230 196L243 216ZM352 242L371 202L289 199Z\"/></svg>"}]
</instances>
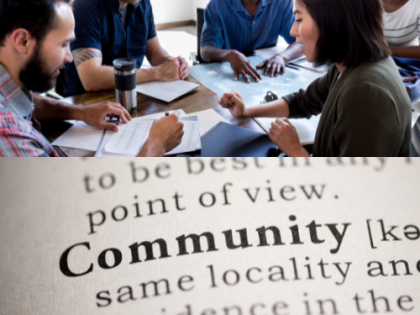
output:
<instances>
[{"instance_id":1,"label":"stainless steel tumbler with dark band standing on table","mask_svg":"<svg viewBox=\"0 0 420 315\"><path fill-rule=\"evenodd\" d=\"M114 60L113 64L117 103L120 103L131 113L137 110L136 61L120 58Z\"/></svg>"}]
</instances>

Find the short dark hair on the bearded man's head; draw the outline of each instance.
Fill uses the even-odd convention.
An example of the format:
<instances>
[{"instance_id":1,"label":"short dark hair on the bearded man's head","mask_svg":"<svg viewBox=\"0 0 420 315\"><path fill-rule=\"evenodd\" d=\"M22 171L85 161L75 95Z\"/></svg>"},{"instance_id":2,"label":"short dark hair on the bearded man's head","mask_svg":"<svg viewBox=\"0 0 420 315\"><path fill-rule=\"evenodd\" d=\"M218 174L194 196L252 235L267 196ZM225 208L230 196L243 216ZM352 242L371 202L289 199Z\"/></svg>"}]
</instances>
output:
<instances>
[{"instance_id":1,"label":"short dark hair on the bearded man's head","mask_svg":"<svg viewBox=\"0 0 420 315\"><path fill-rule=\"evenodd\" d=\"M38 43L55 27L57 2L72 0L0 0L0 46L18 28L26 29Z\"/></svg>"}]
</instances>

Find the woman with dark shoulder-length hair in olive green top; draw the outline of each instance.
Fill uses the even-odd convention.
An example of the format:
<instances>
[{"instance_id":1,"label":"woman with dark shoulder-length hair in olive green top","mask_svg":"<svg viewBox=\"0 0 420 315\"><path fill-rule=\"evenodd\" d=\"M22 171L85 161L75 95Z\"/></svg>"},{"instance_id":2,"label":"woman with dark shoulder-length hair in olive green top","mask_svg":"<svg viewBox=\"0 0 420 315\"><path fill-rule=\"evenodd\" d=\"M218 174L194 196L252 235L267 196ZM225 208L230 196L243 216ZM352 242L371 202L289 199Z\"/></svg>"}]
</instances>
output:
<instances>
[{"instance_id":1,"label":"woman with dark shoulder-length hair in olive green top","mask_svg":"<svg viewBox=\"0 0 420 315\"><path fill-rule=\"evenodd\" d=\"M314 156L408 156L411 102L389 57L379 0L294 0L291 35L309 62L330 64L306 91L245 108L239 93L220 104L242 117L309 118L322 113ZM277 119L270 138L288 156L308 156L293 125Z\"/></svg>"}]
</instances>

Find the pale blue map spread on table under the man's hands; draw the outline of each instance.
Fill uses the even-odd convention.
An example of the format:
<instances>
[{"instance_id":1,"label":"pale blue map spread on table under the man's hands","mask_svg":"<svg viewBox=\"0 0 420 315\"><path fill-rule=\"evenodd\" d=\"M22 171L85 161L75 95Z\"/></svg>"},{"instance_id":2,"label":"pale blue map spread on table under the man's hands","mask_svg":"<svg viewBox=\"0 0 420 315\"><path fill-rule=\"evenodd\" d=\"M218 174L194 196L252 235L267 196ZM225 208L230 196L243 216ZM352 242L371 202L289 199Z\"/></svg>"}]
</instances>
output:
<instances>
[{"instance_id":1,"label":"pale blue map spread on table under the man's hands","mask_svg":"<svg viewBox=\"0 0 420 315\"><path fill-rule=\"evenodd\" d=\"M265 60L262 56L252 56L248 59L254 67ZM232 90L238 91L246 106L260 104L268 91L280 98L299 89L306 89L313 80L323 75L290 68L286 68L284 75L273 78L264 76L264 69L258 72L263 77L260 82L251 80L251 83L246 83L242 77L237 81L233 80L233 70L229 62L203 64L190 68L190 74L194 79L219 96Z\"/></svg>"}]
</instances>

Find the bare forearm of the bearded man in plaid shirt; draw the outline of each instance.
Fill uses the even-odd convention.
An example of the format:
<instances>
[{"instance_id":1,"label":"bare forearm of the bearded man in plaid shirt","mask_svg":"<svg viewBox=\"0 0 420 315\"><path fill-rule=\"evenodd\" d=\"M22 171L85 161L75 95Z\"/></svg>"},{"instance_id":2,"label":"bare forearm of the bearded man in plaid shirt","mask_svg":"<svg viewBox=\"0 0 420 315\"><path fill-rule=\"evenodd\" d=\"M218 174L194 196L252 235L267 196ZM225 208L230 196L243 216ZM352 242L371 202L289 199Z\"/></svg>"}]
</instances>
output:
<instances>
[{"instance_id":1,"label":"bare forearm of the bearded man in plaid shirt","mask_svg":"<svg viewBox=\"0 0 420 315\"><path fill-rule=\"evenodd\" d=\"M81 118L81 105L72 105L52 98L32 93L34 98L34 116L37 120L64 120Z\"/></svg>"}]
</instances>

